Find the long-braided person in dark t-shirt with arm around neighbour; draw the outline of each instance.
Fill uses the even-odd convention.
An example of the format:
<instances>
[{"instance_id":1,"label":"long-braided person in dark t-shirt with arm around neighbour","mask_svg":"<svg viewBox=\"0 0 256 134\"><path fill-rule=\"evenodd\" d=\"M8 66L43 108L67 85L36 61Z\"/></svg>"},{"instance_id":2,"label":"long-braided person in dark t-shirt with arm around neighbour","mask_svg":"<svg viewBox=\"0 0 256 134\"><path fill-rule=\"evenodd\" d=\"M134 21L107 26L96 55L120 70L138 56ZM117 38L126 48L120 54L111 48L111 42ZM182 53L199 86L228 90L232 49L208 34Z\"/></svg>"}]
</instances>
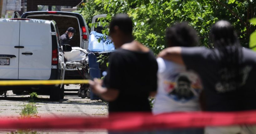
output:
<instances>
[{"instance_id":1,"label":"long-braided person in dark t-shirt with arm around neighbour","mask_svg":"<svg viewBox=\"0 0 256 134\"><path fill-rule=\"evenodd\" d=\"M217 22L211 37L214 49L170 47L159 57L185 65L200 75L207 111L256 109L256 53L240 46L227 21Z\"/></svg>"}]
</instances>

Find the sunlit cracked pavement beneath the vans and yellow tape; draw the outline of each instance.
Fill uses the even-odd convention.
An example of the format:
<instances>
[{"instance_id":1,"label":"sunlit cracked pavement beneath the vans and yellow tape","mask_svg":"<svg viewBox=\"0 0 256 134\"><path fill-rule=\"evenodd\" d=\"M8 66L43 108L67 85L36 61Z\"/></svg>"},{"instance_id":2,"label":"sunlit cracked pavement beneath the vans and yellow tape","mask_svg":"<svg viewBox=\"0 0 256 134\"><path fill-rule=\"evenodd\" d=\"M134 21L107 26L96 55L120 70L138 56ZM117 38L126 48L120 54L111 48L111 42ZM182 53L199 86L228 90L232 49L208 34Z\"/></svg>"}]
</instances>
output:
<instances>
[{"instance_id":1,"label":"sunlit cracked pavement beneath the vans and yellow tape","mask_svg":"<svg viewBox=\"0 0 256 134\"><path fill-rule=\"evenodd\" d=\"M51 102L50 97L46 95L39 95L39 100L34 102L38 116L43 117L107 117L107 103L101 100L90 100L88 98L81 98L77 96L77 89L80 85L65 86L65 97L59 102ZM0 118L9 118L16 120L19 117L22 107L29 103L29 94L24 92L22 95L15 95L12 91L7 92L7 97L0 96ZM7 134L15 130L0 130L0 134ZM92 133L92 134L107 134L106 130L86 130L86 131L62 131L62 130L36 130L42 134L51 133Z\"/></svg>"}]
</instances>

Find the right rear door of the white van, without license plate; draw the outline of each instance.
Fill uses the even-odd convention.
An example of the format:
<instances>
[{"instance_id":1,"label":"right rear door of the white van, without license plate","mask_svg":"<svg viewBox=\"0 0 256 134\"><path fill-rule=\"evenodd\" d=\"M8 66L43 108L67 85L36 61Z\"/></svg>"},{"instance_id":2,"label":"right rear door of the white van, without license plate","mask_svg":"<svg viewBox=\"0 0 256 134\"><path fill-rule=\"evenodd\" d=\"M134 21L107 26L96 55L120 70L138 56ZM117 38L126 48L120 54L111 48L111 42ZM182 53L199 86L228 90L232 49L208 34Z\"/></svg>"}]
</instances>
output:
<instances>
[{"instance_id":1,"label":"right rear door of the white van, without license plate","mask_svg":"<svg viewBox=\"0 0 256 134\"><path fill-rule=\"evenodd\" d=\"M51 75L50 21L21 20L18 79L48 80Z\"/></svg>"}]
</instances>

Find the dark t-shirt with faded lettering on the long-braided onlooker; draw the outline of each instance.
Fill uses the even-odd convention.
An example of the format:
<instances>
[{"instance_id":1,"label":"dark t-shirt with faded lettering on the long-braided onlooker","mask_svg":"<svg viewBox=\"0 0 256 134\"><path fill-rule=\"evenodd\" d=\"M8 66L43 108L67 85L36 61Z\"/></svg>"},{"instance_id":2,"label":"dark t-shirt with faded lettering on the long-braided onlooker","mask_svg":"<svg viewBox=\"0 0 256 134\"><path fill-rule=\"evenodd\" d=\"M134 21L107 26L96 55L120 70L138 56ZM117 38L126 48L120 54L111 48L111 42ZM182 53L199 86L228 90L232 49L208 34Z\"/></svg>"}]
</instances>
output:
<instances>
[{"instance_id":1,"label":"dark t-shirt with faded lettering on the long-braided onlooker","mask_svg":"<svg viewBox=\"0 0 256 134\"><path fill-rule=\"evenodd\" d=\"M242 82L238 88L232 88L232 85L221 82L221 77L230 76L223 70L217 49L182 47L181 54L185 66L196 71L201 77L206 93L207 111L256 109L256 53L247 48L241 49L242 61L239 66Z\"/></svg>"}]
</instances>

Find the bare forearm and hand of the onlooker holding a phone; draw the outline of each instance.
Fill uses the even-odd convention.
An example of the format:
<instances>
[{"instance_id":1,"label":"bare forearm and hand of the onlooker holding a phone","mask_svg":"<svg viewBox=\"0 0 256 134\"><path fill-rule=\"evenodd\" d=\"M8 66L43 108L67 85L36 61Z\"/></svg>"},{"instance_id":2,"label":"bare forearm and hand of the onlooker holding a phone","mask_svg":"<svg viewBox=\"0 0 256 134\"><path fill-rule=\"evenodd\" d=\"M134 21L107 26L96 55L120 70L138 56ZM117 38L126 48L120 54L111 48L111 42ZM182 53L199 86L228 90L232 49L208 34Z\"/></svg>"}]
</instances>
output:
<instances>
[{"instance_id":1,"label":"bare forearm and hand of the onlooker holding a phone","mask_svg":"<svg viewBox=\"0 0 256 134\"><path fill-rule=\"evenodd\" d=\"M102 80L100 79L94 78L94 81L90 80L89 83L91 91L108 102L116 100L119 95L119 91L116 89L102 87Z\"/></svg>"}]
</instances>

